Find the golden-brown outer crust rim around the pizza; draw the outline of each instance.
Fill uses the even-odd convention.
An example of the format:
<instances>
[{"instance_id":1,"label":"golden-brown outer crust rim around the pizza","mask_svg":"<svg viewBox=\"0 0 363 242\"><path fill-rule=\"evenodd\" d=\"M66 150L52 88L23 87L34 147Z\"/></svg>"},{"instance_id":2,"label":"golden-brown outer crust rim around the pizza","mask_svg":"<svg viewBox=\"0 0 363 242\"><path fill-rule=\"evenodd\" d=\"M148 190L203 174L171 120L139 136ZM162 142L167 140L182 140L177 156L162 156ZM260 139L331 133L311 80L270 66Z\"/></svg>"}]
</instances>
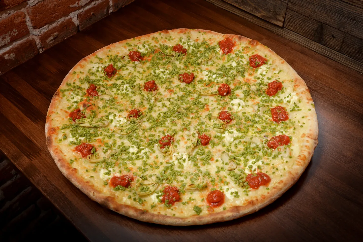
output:
<instances>
[{"instance_id":1,"label":"golden-brown outer crust rim around the pizza","mask_svg":"<svg viewBox=\"0 0 363 242\"><path fill-rule=\"evenodd\" d=\"M233 38L235 41L249 41L249 44L252 48L259 48L265 52L268 52L271 56L271 59L281 63L280 65L284 67L285 70L290 71L293 75L295 89L299 97L305 99L307 102L312 103L312 99L310 96L309 89L306 86L306 83L303 81L301 77L287 64L280 56L274 53L272 50L267 48L266 46L260 44L257 40L251 40L249 38L238 36L234 34L220 34L209 30L200 30L200 29L173 29L173 30L163 30L160 31L162 34L169 34L170 32L176 33L186 33L192 31L200 31L206 32L213 36L220 37L221 39L224 37ZM135 39L142 39L142 38L150 38L157 33L147 34L146 36L139 36ZM83 63L86 63L91 57L94 57L97 53L102 53L105 50L113 48L114 46L122 46L129 40L123 40L115 44L111 44L109 46L105 46L104 48L97 50L90 56L83 58L79 61L72 70L69 71L68 75L64 78L60 87L62 87L71 77L70 73L76 70L78 67L82 67ZM51 120L49 118L50 112L57 110L57 102L60 100L60 92L59 89L53 95L52 102L48 109L46 125L45 125L45 134L46 134L46 144L48 146L49 152L51 153L54 161L56 162L60 171L69 179L74 185L76 185L83 193L87 194L92 200L98 202L99 204L105 206L106 208L112 209L115 212L123 214L125 216L135 218L140 221L144 222L151 222L151 223L159 223L164 225L202 225L214 222L223 222L228 220L233 220L235 218L239 218L245 216L247 214L256 212L257 210L264 208L268 204L275 201L278 197L280 197L287 189L289 189L295 182L299 179L301 174L305 171L305 168L309 164L311 157L313 156L314 149L318 144L318 121L316 113L313 112L313 115L308 117L310 122L310 130L308 134L302 134L301 139L301 151L300 154L295 162L293 168L287 173L287 176L284 177L280 182L277 183L272 189L269 190L268 193L261 195L260 198L256 198L255 200L249 201L249 204L246 206L233 206L231 208L227 208L222 212L217 213L210 213L207 215L194 215L191 217L180 218L180 217L172 217L172 216L165 216L162 214L154 214L147 212L146 210L137 209L135 207L119 204L116 199L112 196L106 196L102 192L98 191L93 185L89 184L82 179L81 176L77 175L77 169L73 169L69 162L65 159L60 147L54 143L54 139L56 137L55 133L57 132L56 128L51 127Z\"/></svg>"}]
</instances>

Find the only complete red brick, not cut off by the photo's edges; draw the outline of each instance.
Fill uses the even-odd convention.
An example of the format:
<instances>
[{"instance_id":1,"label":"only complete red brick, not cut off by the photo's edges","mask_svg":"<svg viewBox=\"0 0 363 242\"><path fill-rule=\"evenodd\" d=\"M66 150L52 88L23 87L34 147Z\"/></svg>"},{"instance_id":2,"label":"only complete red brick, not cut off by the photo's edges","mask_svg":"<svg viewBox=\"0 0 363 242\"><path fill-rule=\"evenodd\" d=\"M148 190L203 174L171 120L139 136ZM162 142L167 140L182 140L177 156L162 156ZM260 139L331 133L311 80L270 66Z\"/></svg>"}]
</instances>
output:
<instances>
[{"instance_id":1,"label":"only complete red brick, not cut off by the photo's edges","mask_svg":"<svg viewBox=\"0 0 363 242\"><path fill-rule=\"evenodd\" d=\"M64 41L66 38L77 33L77 26L74 24L71 18L66 19L60 24L47 30L39 36L39 40L42 44L43 50L49 49L53 45Z\"/></svg>"}]
</instances>

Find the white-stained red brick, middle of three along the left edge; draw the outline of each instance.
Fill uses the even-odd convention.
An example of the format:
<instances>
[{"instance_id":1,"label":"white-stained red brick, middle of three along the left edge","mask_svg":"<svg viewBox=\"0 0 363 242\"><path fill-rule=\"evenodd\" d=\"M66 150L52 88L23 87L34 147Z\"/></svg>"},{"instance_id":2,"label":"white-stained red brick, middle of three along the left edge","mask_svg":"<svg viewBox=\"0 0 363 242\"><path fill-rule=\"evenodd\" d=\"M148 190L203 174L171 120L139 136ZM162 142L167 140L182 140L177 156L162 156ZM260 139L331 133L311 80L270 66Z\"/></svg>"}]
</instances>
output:
<instances>
[{"instance_id":1,"label":"white-stained red brick, middle of three along the left edge","mask_svg":"<svg viewBox=\"0 0 363 242\"><path fill-rule=\"evenodd\" d=\"M0 47L29 33L25 17L24 12L16 11L0 21Z\"/></svg>"}]
</instances>

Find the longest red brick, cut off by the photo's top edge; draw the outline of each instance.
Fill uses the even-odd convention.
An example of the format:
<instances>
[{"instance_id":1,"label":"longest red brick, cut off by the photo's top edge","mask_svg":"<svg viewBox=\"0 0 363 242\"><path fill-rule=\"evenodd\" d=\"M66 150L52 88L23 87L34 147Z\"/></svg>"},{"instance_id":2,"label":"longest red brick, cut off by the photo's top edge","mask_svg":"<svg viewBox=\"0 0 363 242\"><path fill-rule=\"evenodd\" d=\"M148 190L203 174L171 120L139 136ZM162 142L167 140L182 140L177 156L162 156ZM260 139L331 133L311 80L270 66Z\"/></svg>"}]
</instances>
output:
<instances>
[{"instance_id":1,"label":"longest red brick, cut off by the photo's top edge","mask_svg":"<svg viewBox=\"0 0 363 242\"><path fill-rule=\"evenodd\" d=\"M90 0L44 0L28 7L28 15L34 29L50 24L83 7Z\"/></svg>"}]
</instances>

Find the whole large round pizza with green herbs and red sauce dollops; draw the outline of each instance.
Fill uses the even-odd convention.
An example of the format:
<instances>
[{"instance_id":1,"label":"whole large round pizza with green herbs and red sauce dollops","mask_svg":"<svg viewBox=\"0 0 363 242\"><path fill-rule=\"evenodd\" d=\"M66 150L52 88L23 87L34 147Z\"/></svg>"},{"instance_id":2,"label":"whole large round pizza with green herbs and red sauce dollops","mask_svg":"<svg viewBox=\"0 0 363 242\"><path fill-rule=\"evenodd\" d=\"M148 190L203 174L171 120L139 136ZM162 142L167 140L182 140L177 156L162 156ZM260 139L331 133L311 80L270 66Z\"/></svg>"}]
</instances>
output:
<instances>
[{"instance_id":1,"label":"whole large round pizza with green herbs and red sauce dollops","mask_svg":"<svg viewBox=\"0 0 363 242\"><path fill-rule=\"evenodd\" d=\"M256 40L163 30L79 61L49 106L60 171L125 216L199 225L256 212L301 176L318 141L309 89Z\"/></svg>"}]
</instances>

